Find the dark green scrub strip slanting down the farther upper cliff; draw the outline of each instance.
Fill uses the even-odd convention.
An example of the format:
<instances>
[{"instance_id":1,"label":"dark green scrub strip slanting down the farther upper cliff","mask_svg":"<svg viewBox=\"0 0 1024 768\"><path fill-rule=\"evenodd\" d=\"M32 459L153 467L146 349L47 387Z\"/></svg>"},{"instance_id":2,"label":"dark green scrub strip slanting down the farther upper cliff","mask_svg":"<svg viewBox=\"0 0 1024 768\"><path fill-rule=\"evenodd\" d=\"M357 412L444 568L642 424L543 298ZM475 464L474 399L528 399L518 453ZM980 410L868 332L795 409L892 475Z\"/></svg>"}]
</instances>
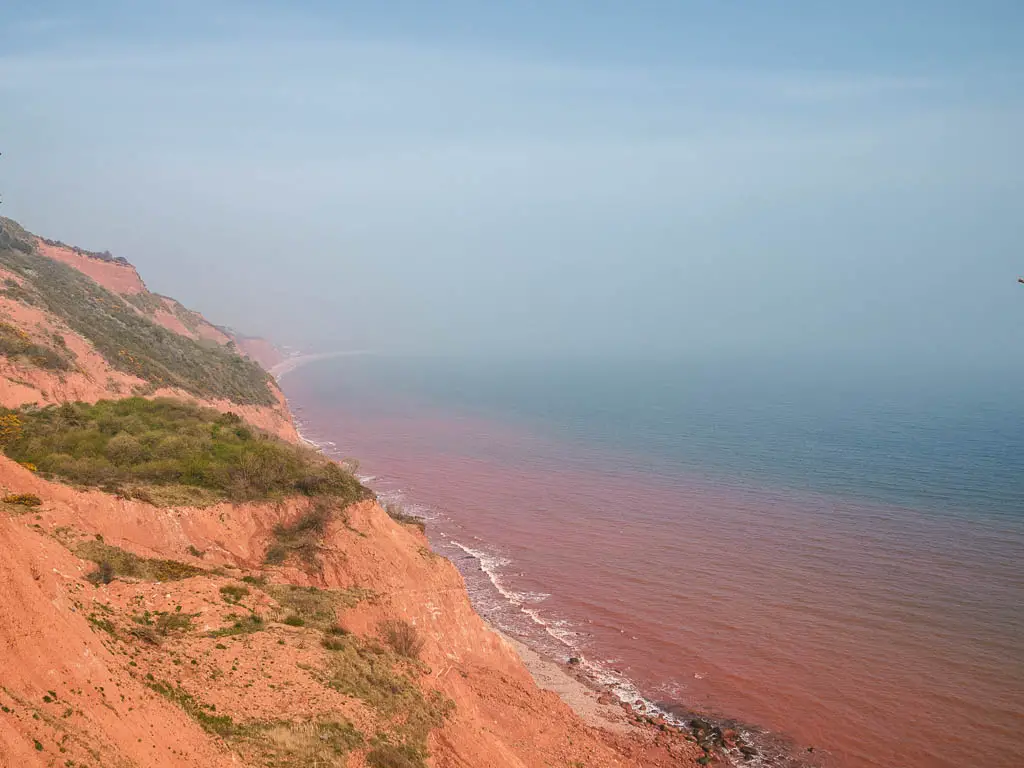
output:
<instances>
[{"instance_id":1,"label":"dark green scrub strip slanting down the farther upper cliff","mask_svg":"<svg viewBox=\"0 0 1024 768\"><path fill-rule=\"evenodd\" d=\"M0 267L22 280L17 289L22 300L63 321L119 371L156 387L175 387L200 397L260 406L275 402L269 376L258 365L226 347L161 327L77 269L39 254L31 236L3 218ZM62 365L46 352L38 354L47 365Z\"/></svg>"}]
</instances>

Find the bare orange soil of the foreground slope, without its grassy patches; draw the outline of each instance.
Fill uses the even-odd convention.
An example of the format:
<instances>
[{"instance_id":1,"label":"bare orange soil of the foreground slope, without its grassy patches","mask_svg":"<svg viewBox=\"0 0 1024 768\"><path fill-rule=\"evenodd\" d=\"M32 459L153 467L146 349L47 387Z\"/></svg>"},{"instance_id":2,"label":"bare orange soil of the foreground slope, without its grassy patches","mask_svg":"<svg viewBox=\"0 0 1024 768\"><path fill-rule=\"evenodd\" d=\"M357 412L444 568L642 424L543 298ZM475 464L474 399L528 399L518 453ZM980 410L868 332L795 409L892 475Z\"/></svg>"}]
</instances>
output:
<instances>
[{"instance_id":1,"label":"bare orange soil of the foreground slope, without its grassy patches","mask_svg":"<svg viewBox=\"0 0 1024 768\"><path fill-rule=\"evenodd\" d=\"M45 500L38 512L17 514L9 505L0 512L0 703L11 710L0 712L0 765L59 765L68 759L103 766L229 764L215 736L145 687L146 675L173 680L239 720L343 714L365 732L374 731L372 712L325 688L304 669L323 664L328 652L301 628L271 626L218 650L201 633L158 648L130 637L115 640L89 624L89 616L98 616L120 628L131 611L181 605L200 616L200 629L220 626L229 606L218 587L261 567L273 525L298 514L303 501L157 509L50 483L6 459L0 459L0 485ZM141 555L227 569L165 584L94 588L84 579L92 564L60 542L73 546L97 534ZM189 547L204 556L189 555ZM655 729L623 735L594 728L555 693L539 689L512 645L473 611L452 563L376 504L358 505L347 521L332 523L321 560L317 572L279 567L270 570L271 579L371 589L375 599L340 613L348 630L372 635L381 618L399 616L425 637L420 685L456 703L431 737L433 765L669 766L689 765L699 755L694 744ZM178 666L174 659L196 663ZM228 666L237 671L211 681L211 670ZM44 701L48 691L57 694L55 702ZM359 765L358 756L349 764Z\"/></svg>"}]
</instances>

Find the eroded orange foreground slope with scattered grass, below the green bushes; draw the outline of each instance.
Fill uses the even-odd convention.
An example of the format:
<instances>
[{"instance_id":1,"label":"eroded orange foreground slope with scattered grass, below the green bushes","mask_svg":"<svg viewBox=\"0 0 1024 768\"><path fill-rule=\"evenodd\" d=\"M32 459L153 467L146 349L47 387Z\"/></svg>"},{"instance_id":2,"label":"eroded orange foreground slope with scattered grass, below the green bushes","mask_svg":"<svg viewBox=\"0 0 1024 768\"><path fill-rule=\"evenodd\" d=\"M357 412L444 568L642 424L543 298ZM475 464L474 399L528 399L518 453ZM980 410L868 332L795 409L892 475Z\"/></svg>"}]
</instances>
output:
<instances>
[{"instance_id":1,"label":"eroded orange foreground slope with scattered grass, below the green bushes","mask_svg":"<svg viewBox=\"0 0 1024 768\"><path fill-rule=\"evenodd\" d=\"M590 727L541 691L452 563L374 502L335 512L308 559L267 565L308 499L157 508L6 459L0 486L42 501L0 505L0 765L362 766L374 744L417 737L434 766L701 754L657 730ZM164 562L169 580L94 586L96 548ZM388 620L416 628L417 659L380 650Z\"/></svg>"}]
</instances>

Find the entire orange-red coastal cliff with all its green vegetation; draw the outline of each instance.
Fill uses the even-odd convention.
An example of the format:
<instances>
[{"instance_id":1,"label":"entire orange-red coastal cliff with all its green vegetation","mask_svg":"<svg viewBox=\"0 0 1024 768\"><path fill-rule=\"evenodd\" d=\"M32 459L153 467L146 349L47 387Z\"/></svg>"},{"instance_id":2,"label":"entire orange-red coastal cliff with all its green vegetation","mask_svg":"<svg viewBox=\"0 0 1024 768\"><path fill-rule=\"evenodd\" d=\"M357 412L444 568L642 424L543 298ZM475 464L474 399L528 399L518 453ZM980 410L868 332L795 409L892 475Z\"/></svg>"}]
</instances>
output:
<instances>
[{"instance_id":1,"label":"entire orange-red coastal cliff with all its green vegetation","mask_svg":"<svg viewBox=\"0 0 1024 768\"><path fill-rule=\"evenodd\" d=\"M540 689L421 527L130 265L3 220L0 270L0 766L713 759Z\"/></svg>"}]
</instances>

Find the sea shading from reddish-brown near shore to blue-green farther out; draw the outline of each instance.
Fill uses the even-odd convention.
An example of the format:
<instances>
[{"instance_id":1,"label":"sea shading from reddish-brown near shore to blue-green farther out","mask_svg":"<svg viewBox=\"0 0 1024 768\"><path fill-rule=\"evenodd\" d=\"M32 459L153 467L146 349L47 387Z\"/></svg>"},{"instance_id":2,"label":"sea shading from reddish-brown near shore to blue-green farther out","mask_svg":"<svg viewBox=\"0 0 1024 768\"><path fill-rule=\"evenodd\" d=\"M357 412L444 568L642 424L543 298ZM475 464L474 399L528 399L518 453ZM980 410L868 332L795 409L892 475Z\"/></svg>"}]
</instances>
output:
<instances>
[{"instance_id":1,"label":"sea shading from reddish-brown near shore to blue-green farther out","mask_svg":"<svg viewBox=\"0 0 1024 768\"><path fill-rule=\"evenodd\" d=\"M1024 766L1019 373L360 354L282 385L488 622L744 729L737 765Z\"/></svg>"}]
</instances>

